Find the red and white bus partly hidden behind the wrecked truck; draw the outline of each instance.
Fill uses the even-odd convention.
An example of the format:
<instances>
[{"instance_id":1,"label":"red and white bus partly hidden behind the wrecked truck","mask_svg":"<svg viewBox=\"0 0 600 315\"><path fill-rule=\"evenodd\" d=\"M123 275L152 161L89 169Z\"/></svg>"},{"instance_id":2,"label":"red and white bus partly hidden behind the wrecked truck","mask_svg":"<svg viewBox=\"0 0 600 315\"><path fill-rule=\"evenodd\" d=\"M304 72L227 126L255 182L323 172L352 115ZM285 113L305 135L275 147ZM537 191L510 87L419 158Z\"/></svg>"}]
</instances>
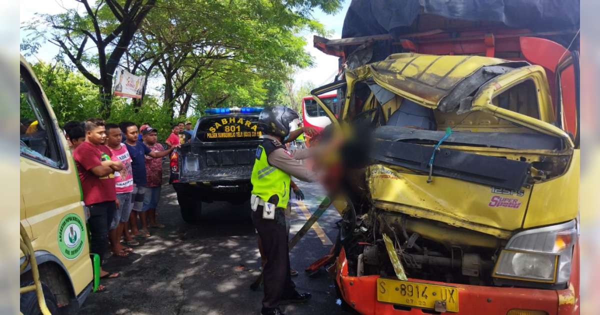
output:
<instances>
[{"instance_id":1,"label":"red and white bus partly hidden behind the wrecked truck","mask_svg":"<svg viewBox=\"0 0 600 315\"><path fill-rule=\"evenodd\" d=\"M338 115L337 94L319 95L319 98L331 109L335 116ZM313 127L317 132L321 132L323 128L331 124L331 120L329 120L325 111L311 96L302 98L302 121L304 122L304 127ZM311 137L304 134L304 138L306 139L306 145L310 146Z\"/></svg>"}]
</instances>

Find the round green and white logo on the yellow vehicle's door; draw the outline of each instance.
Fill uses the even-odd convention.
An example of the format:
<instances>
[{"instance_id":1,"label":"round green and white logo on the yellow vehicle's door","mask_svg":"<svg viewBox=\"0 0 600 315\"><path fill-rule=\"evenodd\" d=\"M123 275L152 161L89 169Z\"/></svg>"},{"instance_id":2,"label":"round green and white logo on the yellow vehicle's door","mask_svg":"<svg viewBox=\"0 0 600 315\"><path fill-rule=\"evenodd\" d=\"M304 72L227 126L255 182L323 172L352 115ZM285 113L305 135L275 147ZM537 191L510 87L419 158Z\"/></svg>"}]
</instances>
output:
<instances>
[{"instance_id":1,"label":"round green and white logo on the yellow vehicle's door","mask_svg":"<svg viewBox=\"0 0 600 315\"><path fill-rule=\"evenodd\" d=\"M76 259L83 251L83 220L74 213L65 215L58 224L58 248L67 259Z\"/></svg>"}]
</instances>

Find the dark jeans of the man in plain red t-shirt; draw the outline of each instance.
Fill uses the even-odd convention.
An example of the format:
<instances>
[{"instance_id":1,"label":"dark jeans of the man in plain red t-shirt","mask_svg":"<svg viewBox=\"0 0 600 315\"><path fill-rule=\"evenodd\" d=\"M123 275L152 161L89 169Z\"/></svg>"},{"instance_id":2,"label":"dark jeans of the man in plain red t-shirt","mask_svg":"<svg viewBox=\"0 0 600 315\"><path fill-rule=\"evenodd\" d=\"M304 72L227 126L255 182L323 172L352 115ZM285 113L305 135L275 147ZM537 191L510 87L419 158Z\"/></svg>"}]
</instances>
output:
<instances>
[{"instance_id":1,"label":"dark jeans of the man in plain red t-shirt","mask_svg":"<svg viewBox=\"0 0 600 315\"><path fill-rule=\"evenodd\" d=\"M107 233L115 215L116 203L114 201L105 201L89 205L88 208L88 226L91 233L89 245L92 253L100 256L100 264L102 264L104 254L108 250Z\"/></svg>"}]
</instances>

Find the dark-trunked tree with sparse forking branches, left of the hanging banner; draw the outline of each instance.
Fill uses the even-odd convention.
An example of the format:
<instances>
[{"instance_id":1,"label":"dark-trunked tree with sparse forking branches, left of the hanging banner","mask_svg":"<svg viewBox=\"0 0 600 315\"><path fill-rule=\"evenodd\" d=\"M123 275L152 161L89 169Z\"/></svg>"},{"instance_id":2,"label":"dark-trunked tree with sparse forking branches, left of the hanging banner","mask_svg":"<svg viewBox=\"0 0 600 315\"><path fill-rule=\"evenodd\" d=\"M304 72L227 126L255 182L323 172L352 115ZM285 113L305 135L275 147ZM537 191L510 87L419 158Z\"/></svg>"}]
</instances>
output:
<instances>
[{"instance_id":1,"label":"dark-trunked tree with sparse forking branches, left of the hanging banner","mask_svg":"<svg viewBox=\"0 0 600 315\"><path fill-rule=\"evenodd\" d=\"M34 35L41 35L60 47L61 53L73 62L77 70L98 86L100 115L108 118L113 74L143 19L157 1L100 0L93 5L88 0L76 1L83 5L85 11L73 9L60 14L39 14L42 22L50 27L49 34L38 31L38 21L29 23L27 28L34 31ZM95 46L95 55L86 52L88 45ZM88 69L91 66L98 70L97 74Z\"/></svg>"}]
</instances>

